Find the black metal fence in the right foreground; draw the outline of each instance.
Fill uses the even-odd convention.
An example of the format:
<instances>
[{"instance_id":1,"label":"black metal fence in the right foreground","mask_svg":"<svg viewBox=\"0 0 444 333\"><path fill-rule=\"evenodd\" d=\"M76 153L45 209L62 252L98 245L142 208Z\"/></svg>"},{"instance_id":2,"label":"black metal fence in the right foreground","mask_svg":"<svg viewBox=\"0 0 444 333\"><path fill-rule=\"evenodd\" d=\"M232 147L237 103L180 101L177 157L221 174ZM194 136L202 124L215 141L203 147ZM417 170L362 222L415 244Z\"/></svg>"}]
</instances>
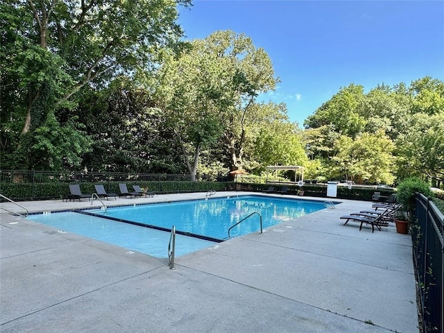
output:
<instances>
[{"instance_id":1,"label":"black metal fence in the right foreground","mask_svg":"<svg viewBox=\"0 0 444 333\"><path fill-rule=\"evenodd\" d=\"M422 194L416 194L413 262L420 291L423 330L444 332L444 215Z\"/></svg>"}]
</instances>

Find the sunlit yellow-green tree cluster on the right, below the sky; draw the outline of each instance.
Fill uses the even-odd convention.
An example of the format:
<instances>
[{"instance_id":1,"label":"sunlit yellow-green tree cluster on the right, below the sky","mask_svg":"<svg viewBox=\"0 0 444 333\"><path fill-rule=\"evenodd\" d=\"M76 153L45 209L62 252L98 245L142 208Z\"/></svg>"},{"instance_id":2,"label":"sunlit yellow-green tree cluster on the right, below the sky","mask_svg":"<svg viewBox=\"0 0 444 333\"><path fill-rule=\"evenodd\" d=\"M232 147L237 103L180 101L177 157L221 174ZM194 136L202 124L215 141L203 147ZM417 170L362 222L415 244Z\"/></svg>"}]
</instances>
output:
<instances>
[{"instance_id":1,"label":"sunlit yellow-green tree cluster on the right, below the sky","mask_svg":"<svg viewBox=\"0 0 444 333\"><path fill-rule=\"evenodd\" d=\"M442 182L443 101L444 83L428 76L409 86L378 85L367 94L352 84L305 121L307 155L322 162L327 178L391 184L416 175ZM364 153L362 163L356 151Z\"/></svg>"}]
</instances>

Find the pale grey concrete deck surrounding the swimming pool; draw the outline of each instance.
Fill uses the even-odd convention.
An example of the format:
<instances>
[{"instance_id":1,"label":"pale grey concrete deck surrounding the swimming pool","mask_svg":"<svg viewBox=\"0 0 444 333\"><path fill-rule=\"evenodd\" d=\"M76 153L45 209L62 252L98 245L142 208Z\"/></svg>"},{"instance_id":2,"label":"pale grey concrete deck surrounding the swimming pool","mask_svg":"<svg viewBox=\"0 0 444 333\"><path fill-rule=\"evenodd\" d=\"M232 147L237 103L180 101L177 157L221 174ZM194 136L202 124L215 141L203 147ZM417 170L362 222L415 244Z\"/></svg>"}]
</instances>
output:
<instances>
[{"instance_id":1,"label":"pale grey concrete deck surrounding the swimming pool","mask_svg":"<svg viewBox=\"0 0 444 333\"><path fill-rule=\"evenodd\" d=\"M205 193L104 202L191 198ZM339 216L371 203L329 200L341 204L176 257L175 270L167 259L0 210L0 332L418 332L411 236L393 223L374 233L344 226ZM93 207L20 204L30 212Z\"/></svg>"}]
</instances>

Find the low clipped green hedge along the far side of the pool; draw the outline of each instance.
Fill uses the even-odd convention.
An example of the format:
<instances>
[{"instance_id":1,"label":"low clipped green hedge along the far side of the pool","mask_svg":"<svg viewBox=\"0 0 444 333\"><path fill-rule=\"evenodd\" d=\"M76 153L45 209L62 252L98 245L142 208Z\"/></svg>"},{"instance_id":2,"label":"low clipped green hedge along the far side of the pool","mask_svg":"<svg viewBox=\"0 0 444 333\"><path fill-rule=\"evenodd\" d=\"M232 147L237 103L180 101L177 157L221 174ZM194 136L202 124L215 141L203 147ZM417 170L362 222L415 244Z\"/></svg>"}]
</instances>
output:
<instances>
[{"instance_id":1,"label":"low clipped green hedge along the far side of the pool","mask_svg":"<svg viewBox=\"0 0 444 333\"><path fill-rule=\"evenodd\" d=\"M119 182L81 182L80 190L84 194L94 193L94 185L102 184L109 193L119 193ZM144 189L150 189L157 194L169 193L187 193L187 192L203 192L208 190L225 191L234 188L235 185L241 185L243 189L250 191L262 192L268 189L269 184L257 183L232 183L232 182L191 182L191 181L141 181L126 182L128 191L133 190L133 185L139 185ZM282 185L284 186L284 185ZM282 186L275 185L275 189ZM327 185L304 185L302 188L298 185L285 185L288 188L288 194L296 195L299 189L304 190L304 196L316 196L320 198L327 197ZM389 196L393 191L383 191L383 196ZM375 189L352 187L348 189L346 186L338 186L337 198L352 200L371 200ZM62 182L44 182L44 183L0 183L0 193L12 200L48 200L62 199L69 194L69 184Z\"/></svg>"}]
</instances>

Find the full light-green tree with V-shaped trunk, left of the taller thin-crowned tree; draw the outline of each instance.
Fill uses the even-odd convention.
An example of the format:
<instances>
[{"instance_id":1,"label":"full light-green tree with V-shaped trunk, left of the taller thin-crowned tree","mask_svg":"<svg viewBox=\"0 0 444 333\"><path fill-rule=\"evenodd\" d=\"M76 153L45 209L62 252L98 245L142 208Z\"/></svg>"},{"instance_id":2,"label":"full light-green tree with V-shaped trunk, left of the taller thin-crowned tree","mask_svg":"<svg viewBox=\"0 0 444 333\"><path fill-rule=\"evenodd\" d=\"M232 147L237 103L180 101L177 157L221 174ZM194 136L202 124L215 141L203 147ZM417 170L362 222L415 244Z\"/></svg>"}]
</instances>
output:
<instances>
[{"instance_id":1,"label":"full light-green tree with V-shaped trunk, left of the taller thin-crowned tree","mask_svg":"<svg viewBox=\"0 0 444 333\"><path fill-rule=\"evenodd\" d=\"M191 180L196 180L199 156L221 135L219 113L223 64L205 53L200 42L191 43L189 52L170 54L160 67L155 87L156 103L167 116L167 126L182 152Z\"/></svg>"}]
</instances>

